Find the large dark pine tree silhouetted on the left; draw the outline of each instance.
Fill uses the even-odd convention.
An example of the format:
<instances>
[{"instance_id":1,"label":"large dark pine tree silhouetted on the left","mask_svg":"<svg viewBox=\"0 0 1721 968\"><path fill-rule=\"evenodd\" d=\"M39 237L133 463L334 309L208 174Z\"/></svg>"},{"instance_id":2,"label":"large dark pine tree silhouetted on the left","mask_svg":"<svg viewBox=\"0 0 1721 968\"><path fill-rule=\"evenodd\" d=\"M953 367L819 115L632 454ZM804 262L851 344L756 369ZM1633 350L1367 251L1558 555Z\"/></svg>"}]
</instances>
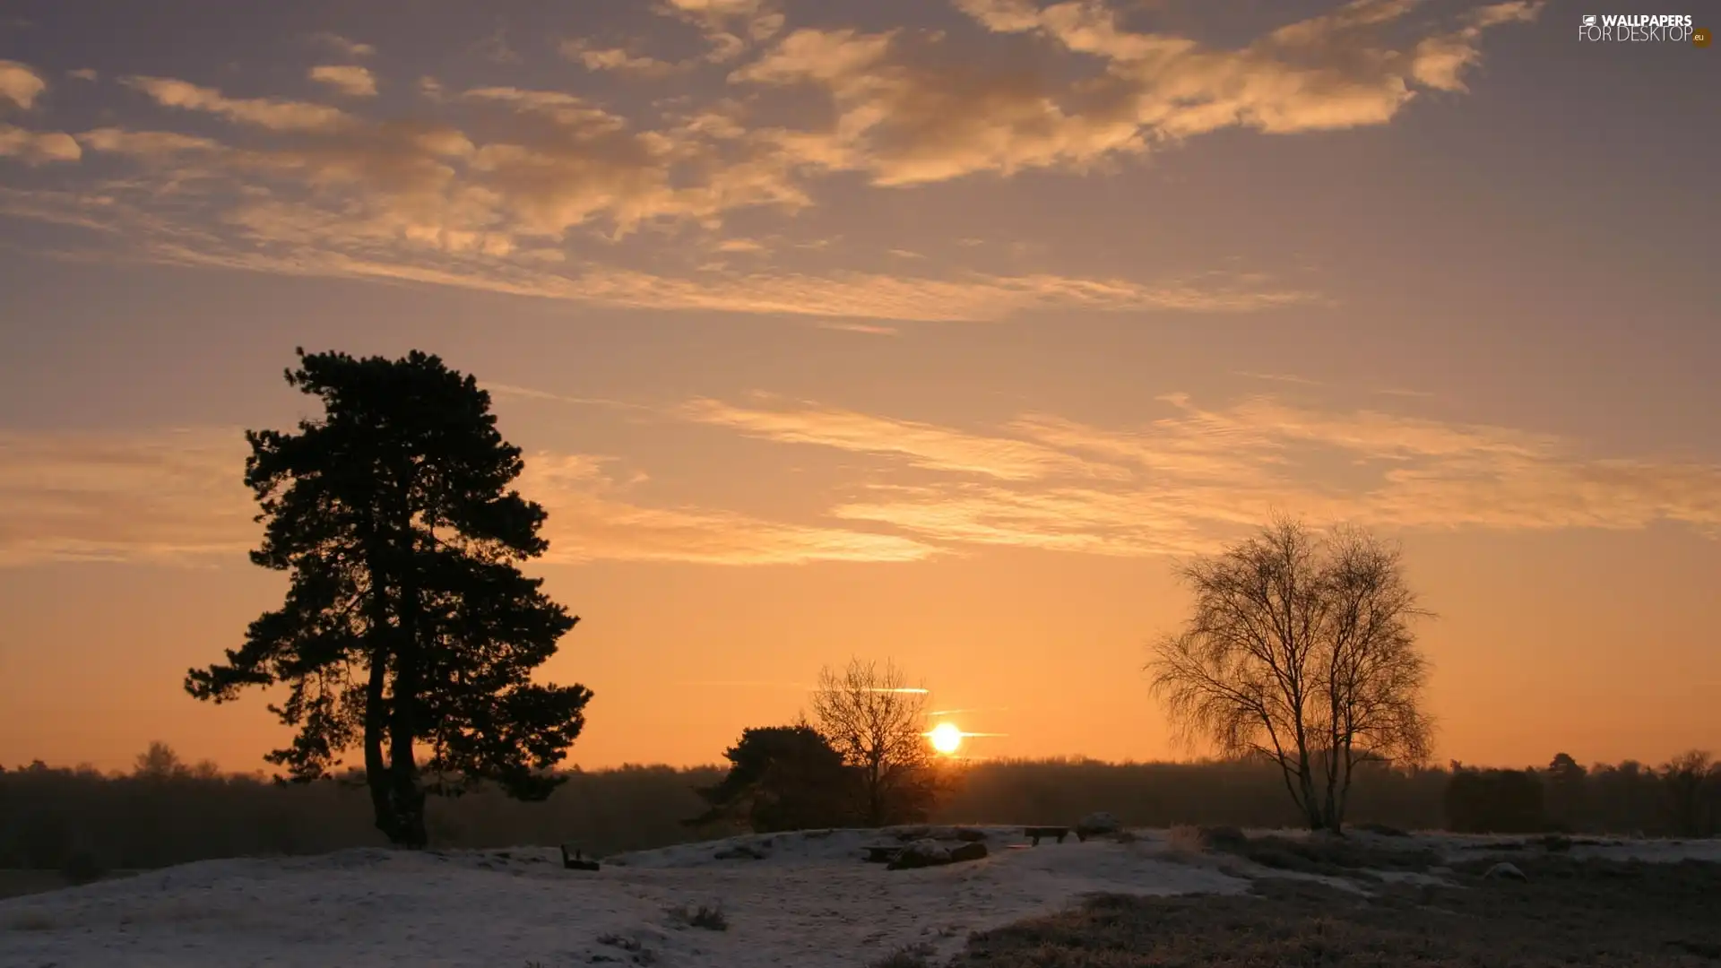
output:
<instances>
[{"instance_id":1,"label":"large dark pine tree silhouetted on the left","mask_svg":"<svg viewBox=\"0 0 1721 968\"><path fill-rule=\"evenodd\" d=\"M244 474L265 525L251 560L291 587L186 691L287 686L270 711L298 734L268 761L315 780L363 748L377 827L399 846L425 846L427 792L490 780L547 797L592 692L532 682L578 618L516 567L549 546L544 508L509 487L520 448L437 357L298 357L287 384L325 413L248 431Z\"/></svg>"}]
</instances>

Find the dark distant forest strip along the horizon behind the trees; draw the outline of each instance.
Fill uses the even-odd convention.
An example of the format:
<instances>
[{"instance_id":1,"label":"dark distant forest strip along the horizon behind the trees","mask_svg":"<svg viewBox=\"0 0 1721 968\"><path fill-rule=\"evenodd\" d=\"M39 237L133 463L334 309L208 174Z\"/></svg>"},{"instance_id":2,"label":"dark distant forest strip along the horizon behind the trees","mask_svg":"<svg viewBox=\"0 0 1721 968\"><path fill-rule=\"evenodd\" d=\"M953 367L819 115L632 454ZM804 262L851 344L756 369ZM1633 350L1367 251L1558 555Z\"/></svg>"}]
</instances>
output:
<instances>
[{"instance_id":1,"label":"dark distant forest strip along the horizon behind the trees","mask_svg":"<svg viewBox=\"0 0 1721 968\"><path fill-rule=\"evenodd\" d=\"M496 791L432 797L434 847L573 844L589 854L731 834L690 827L695 787L718 766L621 766L568 773L544 803ZM959 768L933 813L940 823L1074 823L1105 810L1132 827L1182 823L1298 827L1277 766L1243 761L983 761ZM1544 768L1373 768L1360 773L1353 825L1461 832L1594 832L1661 837L1721 834L1721 765L1690 753L1661 766L1635 761ZM131 773L0 768L0 868L110 870L382 846L361 782L275 784L262 775L188 766L153 744Z\"/></svg>"}]
</instances>

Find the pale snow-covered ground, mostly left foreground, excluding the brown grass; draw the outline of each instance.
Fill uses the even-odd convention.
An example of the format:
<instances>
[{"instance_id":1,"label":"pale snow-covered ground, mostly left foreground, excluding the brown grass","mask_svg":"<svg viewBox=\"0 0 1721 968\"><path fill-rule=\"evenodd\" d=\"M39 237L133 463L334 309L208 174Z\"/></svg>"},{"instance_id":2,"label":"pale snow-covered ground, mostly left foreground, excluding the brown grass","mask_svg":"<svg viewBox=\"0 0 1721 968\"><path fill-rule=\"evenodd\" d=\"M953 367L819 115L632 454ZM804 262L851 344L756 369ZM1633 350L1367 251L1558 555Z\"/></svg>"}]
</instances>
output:
<instances>
[{"instance_id":1,"label":"pale snow-covered ground, mostly left foreground, excluding the brown grass","mask_svg":"<svg viewBox=\"0 0 1721 968\"><path fill-rule=\"evenodd\" d=\"M860 966L916 942L950 954L971 930L1093 890L1248 887L1165 832L1019 847L1021 827L979 830L988 858L900 872L860 861L864 846L893 842L876 830L683 844L608 858L595 873L563 870L544 847L203 861L0 901L0 966ZM1475 837L1387 841L1454 858L1485 853ZM1721 861L1721 841L1575 853ZM702 904L719 906L728 930L675 913Z\"/></svg>"}]
</instances>

